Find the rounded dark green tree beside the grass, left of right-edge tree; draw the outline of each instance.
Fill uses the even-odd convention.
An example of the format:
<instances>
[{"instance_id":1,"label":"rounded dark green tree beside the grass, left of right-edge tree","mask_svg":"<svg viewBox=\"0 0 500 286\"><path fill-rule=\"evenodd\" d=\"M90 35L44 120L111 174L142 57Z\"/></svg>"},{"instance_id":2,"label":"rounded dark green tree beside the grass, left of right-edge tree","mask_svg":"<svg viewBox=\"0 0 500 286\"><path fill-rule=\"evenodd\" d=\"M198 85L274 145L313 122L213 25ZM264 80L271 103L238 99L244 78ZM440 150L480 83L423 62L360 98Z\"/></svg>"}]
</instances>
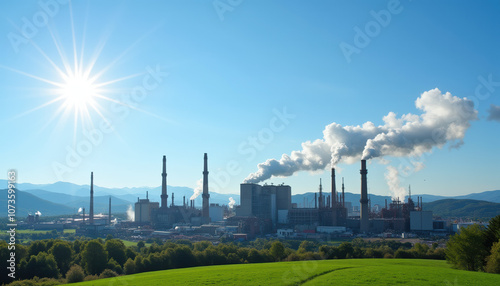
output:
<instances>
[{"instance_id":1,"label":"rounded dark green tree beside the grass, left of right-edge tree","mask_svg":"<svg viewBox=\"0 0 500 286\"><path fill-rule=\"evenodd\" d=\"M448 240L446 260L455 268L469 271L482 270L487 255L483 228L477 224L461 229L460 233Z\"/></svg>"}]
</instances>

